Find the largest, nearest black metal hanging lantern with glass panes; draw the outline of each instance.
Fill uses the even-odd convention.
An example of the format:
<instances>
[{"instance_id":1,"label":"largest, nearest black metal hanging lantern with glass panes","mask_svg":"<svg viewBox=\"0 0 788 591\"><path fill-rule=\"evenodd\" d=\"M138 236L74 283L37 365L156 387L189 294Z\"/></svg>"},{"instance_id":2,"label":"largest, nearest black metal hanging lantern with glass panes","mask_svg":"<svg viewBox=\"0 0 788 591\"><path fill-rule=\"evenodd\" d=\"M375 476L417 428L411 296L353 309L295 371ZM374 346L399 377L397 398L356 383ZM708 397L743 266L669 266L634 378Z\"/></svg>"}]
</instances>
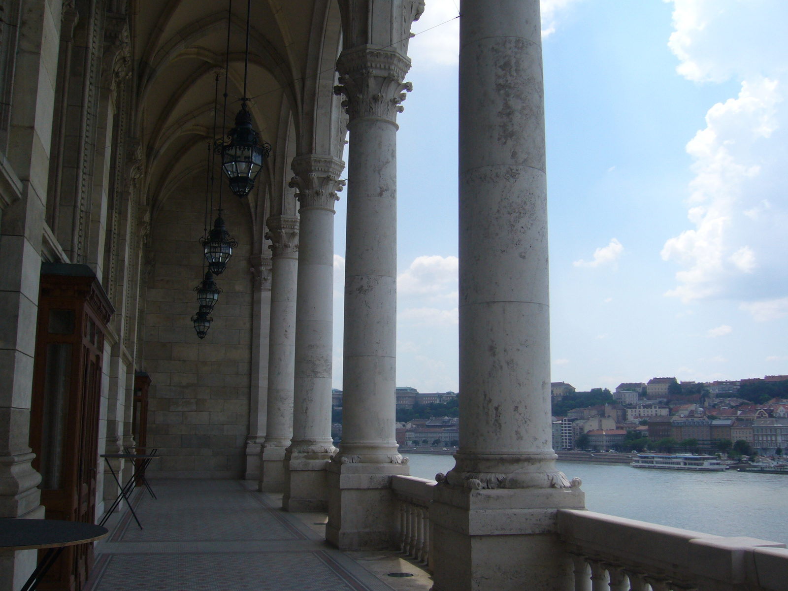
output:
<instances>
[{"instance_id":1,"label":"largest, nearest black metal hanging lantern with glass panes","mask_svg":"<svg viewBox=\"0 0 788 591\"><path fill-rule=\"evenodd\" d=\"M262 161L268 157L271 147L259 143L258 132L251 125L251 113L246 101L236 115L236 126L227 134L228 143L221 145L221 169L230 181L230 190L239 197L246 197L255 187Z\"/></svg>"}]
</instances>

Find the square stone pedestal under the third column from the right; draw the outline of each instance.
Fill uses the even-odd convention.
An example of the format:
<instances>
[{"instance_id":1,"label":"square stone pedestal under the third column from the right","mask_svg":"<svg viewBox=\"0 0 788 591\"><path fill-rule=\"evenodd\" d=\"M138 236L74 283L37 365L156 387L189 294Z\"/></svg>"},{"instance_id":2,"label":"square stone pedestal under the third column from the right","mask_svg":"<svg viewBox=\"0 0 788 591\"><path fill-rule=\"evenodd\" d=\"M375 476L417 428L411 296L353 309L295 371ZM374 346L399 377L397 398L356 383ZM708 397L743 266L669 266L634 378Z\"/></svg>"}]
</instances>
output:
<instances>
[{"instance_id":1,"label":"square stone pedestal under the third column from the right","mask_svg":"<svg viewBox=\"0 0 788 591\"><path fill-rule=\"evenodd\" d=\"M292 513L327 511L329 491L326 470L331 456L325 459L303 459L303 454L287 454L284 458L284 496L282 508Z\"/></svg>"}]
</instances>

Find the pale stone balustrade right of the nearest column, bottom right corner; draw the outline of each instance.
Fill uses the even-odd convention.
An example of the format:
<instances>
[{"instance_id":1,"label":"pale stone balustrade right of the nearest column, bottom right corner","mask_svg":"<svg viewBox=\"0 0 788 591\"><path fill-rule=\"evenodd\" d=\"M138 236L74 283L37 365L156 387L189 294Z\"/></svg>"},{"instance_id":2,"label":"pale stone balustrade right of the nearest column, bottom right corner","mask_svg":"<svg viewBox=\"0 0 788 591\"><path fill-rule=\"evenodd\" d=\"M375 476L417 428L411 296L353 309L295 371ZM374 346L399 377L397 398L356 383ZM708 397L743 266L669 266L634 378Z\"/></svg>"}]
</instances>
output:
<instances>
[{"instance_id":1,"label":"pale stone balustrade right of the nearest column, bottom right corner","mask_svg":"<svg viewBox=\"0 0 788 591\"><path fill-rule=\"evenodd\" d=\"M593 511L559 510L575 591L788 589L788 549Z\"/></svg>"}]
</instances>

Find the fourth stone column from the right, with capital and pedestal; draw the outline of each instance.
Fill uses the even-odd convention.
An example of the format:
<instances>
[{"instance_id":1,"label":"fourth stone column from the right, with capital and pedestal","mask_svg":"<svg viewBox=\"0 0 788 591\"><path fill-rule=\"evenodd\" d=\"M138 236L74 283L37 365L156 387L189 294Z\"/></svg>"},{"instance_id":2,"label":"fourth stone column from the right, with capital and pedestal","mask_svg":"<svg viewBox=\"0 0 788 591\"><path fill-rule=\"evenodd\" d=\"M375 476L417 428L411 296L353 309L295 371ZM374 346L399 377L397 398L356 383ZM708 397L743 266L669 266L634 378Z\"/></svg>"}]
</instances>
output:
<instances>
[{"instance_id":1,"label":"fourth stone column from the right, with capital and pedestal","mask_svg":"<svg viewBox=\"0 0 788 591\"><path fill-rule=\"evenodd\" d=\"M268 352L266 440L260 464L261 491L284 490L284 450L293 424L293 370L296 360L296 281L298 217L271 216L266 222L271 241L271 321Z\"/></svg>"}]
</instances>

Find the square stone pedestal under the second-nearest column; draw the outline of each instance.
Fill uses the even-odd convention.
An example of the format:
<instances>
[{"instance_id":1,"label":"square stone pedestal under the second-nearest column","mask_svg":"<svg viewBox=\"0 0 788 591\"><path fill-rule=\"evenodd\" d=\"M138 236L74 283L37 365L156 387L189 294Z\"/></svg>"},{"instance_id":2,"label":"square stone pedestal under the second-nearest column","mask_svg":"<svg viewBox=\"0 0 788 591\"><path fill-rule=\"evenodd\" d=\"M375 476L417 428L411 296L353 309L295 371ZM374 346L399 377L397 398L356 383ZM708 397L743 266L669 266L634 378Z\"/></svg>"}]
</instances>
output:
<instances>
[{"instance_id":1,"label":"square stone pedestal under the second-nearest column","mask_svg":"<svg viewBox=\"0 0 788 591\"><path fill-rule=\"evenodd\" d=\"M398 519L391 488L395 474L411 474L407 459L403 463L341 463L336 459L329 463L326 541L340 550L391 548Z\"/></svg>"}]
</instances>

